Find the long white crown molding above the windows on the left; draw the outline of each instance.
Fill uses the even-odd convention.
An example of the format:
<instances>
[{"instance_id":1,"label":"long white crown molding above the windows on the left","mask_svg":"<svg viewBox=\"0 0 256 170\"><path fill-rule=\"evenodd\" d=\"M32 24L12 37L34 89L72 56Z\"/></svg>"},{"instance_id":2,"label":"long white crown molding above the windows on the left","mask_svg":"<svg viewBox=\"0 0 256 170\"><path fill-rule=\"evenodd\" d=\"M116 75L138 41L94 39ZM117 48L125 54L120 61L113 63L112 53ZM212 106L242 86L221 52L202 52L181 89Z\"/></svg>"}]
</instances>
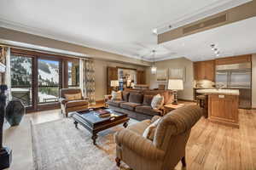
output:
<instances>
[{"instance_id":1,"label":"long white crown molding above the windows on the left","mask_svg":"<svg viewBox=\"0 0 256 170\"><path fill-rule=\"evenodd\" d=\"M91 46L91 45L88 45L88 42L87 43L81 42L80 40L73 41L67 37L61 37L61 36L58 36L55 34L50 34L48 31L45 31L45 30L37 28L37 27L26 26L26 25L23 25L18 22L5 20L3 18L0 18L0 27L7 28L10 30L25 32L25 33L32 34L32 35L39 36L39 37L46 37L46 38L54 39L54 40L61 41L61 42L73 43L75 45L83 46L86 48L94 48L94 49L112 53L112 54L119 54L119 55L123 55L124 57L129 57L132 59L141 59L138 56L134 56L134 55L127 54L127 53L120 53L118 50L110 50L109 48L106 48L106 47ZM143 60L147 61L147 59L143 59Z\"/></svg>"}]
</instances>

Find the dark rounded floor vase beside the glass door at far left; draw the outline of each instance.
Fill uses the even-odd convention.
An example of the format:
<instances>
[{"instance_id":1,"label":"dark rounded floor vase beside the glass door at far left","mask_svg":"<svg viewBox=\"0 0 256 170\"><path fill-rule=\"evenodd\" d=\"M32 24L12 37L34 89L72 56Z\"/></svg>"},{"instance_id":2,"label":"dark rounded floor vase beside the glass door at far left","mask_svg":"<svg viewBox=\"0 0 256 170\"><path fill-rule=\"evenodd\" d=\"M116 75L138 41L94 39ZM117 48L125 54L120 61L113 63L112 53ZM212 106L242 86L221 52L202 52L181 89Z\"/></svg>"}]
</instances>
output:
<instances>
[{"instance_id":1,"label":"dark rounded floor vase beside the glass door at far left","mask_svg":"<svg viewBox=\"0 0 256 170\"><path fill-rule=\"evenodd\" d=\"M20 124L22 117L25 114L25 107L20 100L12 100L6 107L5 118L11 126Z\"/></svg>"}]
</instances>

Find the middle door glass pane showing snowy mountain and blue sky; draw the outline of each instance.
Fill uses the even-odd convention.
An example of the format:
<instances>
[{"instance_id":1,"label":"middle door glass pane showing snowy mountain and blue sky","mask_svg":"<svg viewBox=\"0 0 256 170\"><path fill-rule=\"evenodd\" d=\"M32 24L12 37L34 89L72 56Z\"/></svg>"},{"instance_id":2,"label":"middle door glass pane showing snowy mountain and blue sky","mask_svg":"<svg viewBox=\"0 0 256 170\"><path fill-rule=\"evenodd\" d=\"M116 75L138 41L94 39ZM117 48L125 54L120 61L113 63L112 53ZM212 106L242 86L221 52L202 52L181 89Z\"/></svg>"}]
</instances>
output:
<instances>
[{"instance_id":1,"label":"middle door glass pane showing snowy mountain and blue sky","mask_svg":"<svg viewBox=\"0 0 256 170\"><path fill-rule=\"evenodd\" d=\"M38 103L58 101L59 75L59 61L38 59Z\"/></svg>"}]
</instances>

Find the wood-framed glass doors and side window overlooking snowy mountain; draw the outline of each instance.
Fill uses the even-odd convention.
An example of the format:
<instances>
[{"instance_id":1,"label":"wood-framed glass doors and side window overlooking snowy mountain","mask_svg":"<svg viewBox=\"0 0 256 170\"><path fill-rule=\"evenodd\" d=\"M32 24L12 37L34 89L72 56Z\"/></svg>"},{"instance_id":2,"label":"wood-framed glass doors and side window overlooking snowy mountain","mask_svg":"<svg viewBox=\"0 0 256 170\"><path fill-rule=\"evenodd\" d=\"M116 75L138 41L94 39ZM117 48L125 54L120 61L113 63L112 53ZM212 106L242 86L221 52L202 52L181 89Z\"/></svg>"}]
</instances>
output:
<instances>
[{"instance_id":1,"label":"wood-framed glass doors and side window overlooking snowy mountain","mask_svg":"<svg viewBox=\"0 0 256 170\"><path fill-rule=\"evenodd\" d=\"M60 108L61 88L79 87L79 60L11 50L11 94L27 112Z\"/></svg>"}]
</instances>

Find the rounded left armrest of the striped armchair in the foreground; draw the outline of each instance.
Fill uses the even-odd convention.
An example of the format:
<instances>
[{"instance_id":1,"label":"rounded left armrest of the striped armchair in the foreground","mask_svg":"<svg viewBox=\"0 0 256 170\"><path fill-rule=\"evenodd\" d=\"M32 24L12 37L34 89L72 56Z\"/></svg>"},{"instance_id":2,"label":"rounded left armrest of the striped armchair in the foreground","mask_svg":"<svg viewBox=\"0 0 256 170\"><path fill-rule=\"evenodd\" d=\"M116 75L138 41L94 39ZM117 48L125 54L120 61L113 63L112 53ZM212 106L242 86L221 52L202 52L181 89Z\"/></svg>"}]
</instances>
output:
<instances>
[{"instance_id":1,"label":"rounded left armrest of the striped armchair in the foreground","mask_svg":"<svg viewBox=\"0 0 256 170\"><path fill-rule=\"evenodd\" d=\"M157 149L151 140L145 139L129 129L123 129L115 134L115 142L119 146L133 150L137 155L150 160L163 160L165 151Z\"/></svg>"}]
</instances>

